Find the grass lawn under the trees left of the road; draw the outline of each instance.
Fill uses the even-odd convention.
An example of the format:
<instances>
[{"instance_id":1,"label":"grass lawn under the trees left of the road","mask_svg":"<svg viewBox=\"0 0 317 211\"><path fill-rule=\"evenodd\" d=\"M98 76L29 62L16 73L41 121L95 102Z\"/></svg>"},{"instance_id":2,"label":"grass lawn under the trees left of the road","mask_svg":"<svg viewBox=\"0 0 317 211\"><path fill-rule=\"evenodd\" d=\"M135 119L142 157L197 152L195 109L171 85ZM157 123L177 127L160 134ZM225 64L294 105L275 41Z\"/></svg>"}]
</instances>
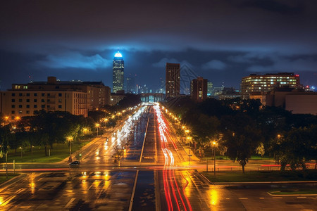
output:
<instances>
[{"instance_id":1,"label":"grass lawn under the trees left of the road","mask_svg":"<svg viewBox=\"0 0 317 211\"><path fill-rule=\"evenodd\" d=\"M73 141L72 152L79 150L87 143L89 143L89 141ZM32 150L32 153L30 151L30 147L23 148L23 154L21 158L20 149L17 149L16 153L15 150L11 149L8 152L8 162L13 162L13 160L15 160L15 162L58 162L69 156L68 143L54 143L53 148L50 148L50 151L51 156L45 156L45 149L43 146L35 146ZM0 162L6 162L5 158L1 158Z\"/></svg>"}]
</instances>

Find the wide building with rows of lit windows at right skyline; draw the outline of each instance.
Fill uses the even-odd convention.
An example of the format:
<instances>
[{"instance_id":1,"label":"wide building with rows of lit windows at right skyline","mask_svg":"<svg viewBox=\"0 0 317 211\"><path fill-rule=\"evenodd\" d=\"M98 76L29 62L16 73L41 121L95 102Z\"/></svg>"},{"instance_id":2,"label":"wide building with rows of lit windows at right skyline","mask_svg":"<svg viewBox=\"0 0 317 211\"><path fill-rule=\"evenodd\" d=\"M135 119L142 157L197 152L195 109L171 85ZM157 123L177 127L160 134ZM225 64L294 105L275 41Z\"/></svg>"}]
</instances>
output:
<instances>
[{"instance_id":1,"label":"wide building with rows of lit windows at right skyline","mask_svg":"<svg viewBox=\"0 0 317 211\"><path fill-rule=\"evenodd\" d=\"M294 75L293 72L279 72L266 75L251 74L247 77L242 77L241 95L243 99L248 99L252 94L271 91L278 87L302 87L299 84L299 75Z\"/></svg>"}]
</instances>

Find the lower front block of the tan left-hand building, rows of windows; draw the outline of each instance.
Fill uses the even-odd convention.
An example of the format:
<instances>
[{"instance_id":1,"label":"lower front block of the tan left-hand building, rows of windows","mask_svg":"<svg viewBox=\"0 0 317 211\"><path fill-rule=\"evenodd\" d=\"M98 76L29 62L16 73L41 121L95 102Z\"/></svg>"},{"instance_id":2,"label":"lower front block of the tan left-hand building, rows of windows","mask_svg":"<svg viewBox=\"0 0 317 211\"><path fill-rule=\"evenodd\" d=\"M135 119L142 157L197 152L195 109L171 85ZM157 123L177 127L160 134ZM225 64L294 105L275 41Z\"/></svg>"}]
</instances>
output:
<instances>
[{"instance_id":1,"label":"lower front block of the tan left-hand building, rows of windows","mask_svg":"<svg viewBox=\"0 0 317 211\"><path fill-rule=\"evenodd\" d=\"M87 93L67 90L10 90L1 92L1 113L9 120L34 115L35 110L67 111L87 117Z\"/></svg>"}]
</instances>

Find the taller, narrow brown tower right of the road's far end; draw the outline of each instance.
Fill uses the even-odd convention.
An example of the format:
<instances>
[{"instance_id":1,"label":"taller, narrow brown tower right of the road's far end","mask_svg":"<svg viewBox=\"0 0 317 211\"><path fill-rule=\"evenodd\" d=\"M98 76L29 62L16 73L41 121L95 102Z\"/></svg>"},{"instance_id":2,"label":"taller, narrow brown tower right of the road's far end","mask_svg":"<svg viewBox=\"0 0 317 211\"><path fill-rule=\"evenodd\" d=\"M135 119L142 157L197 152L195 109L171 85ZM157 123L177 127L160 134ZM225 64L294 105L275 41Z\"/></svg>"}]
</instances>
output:
<instances>
[{"instance_id":1,"label":"taller, narrow brown tower right of the road's far end","mask_svg":"<svg viewBox=\"0 0 317 211\"><path fill-rule=\"evenodd\" d=\"M166 98L180 95L180 64L166 63Z\"/></svg>"}]
</instances>

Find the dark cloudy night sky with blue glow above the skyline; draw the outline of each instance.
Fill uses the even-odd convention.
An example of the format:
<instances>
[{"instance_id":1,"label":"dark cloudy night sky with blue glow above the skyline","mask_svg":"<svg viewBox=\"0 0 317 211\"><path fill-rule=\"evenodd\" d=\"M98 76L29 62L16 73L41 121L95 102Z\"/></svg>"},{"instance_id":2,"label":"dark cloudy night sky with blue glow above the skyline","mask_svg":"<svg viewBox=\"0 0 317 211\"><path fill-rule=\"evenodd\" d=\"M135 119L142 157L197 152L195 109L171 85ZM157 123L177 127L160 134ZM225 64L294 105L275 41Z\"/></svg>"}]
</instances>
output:
<instances>
[{"instance_id":1,"label":"dark cloudy night sky with blue glow above the skyline","mask_svg":"<svg viewBox=\"0 0 317 211\"><path fill-rule=\"evenodd\" d=\"M251 73L295 72L317 85L317 1L2 1L1 90L12 83L125 76L158 89L165 63L217 87ZM189 85L189 83L188 83Z\"/></svg>"}]
</instances>

